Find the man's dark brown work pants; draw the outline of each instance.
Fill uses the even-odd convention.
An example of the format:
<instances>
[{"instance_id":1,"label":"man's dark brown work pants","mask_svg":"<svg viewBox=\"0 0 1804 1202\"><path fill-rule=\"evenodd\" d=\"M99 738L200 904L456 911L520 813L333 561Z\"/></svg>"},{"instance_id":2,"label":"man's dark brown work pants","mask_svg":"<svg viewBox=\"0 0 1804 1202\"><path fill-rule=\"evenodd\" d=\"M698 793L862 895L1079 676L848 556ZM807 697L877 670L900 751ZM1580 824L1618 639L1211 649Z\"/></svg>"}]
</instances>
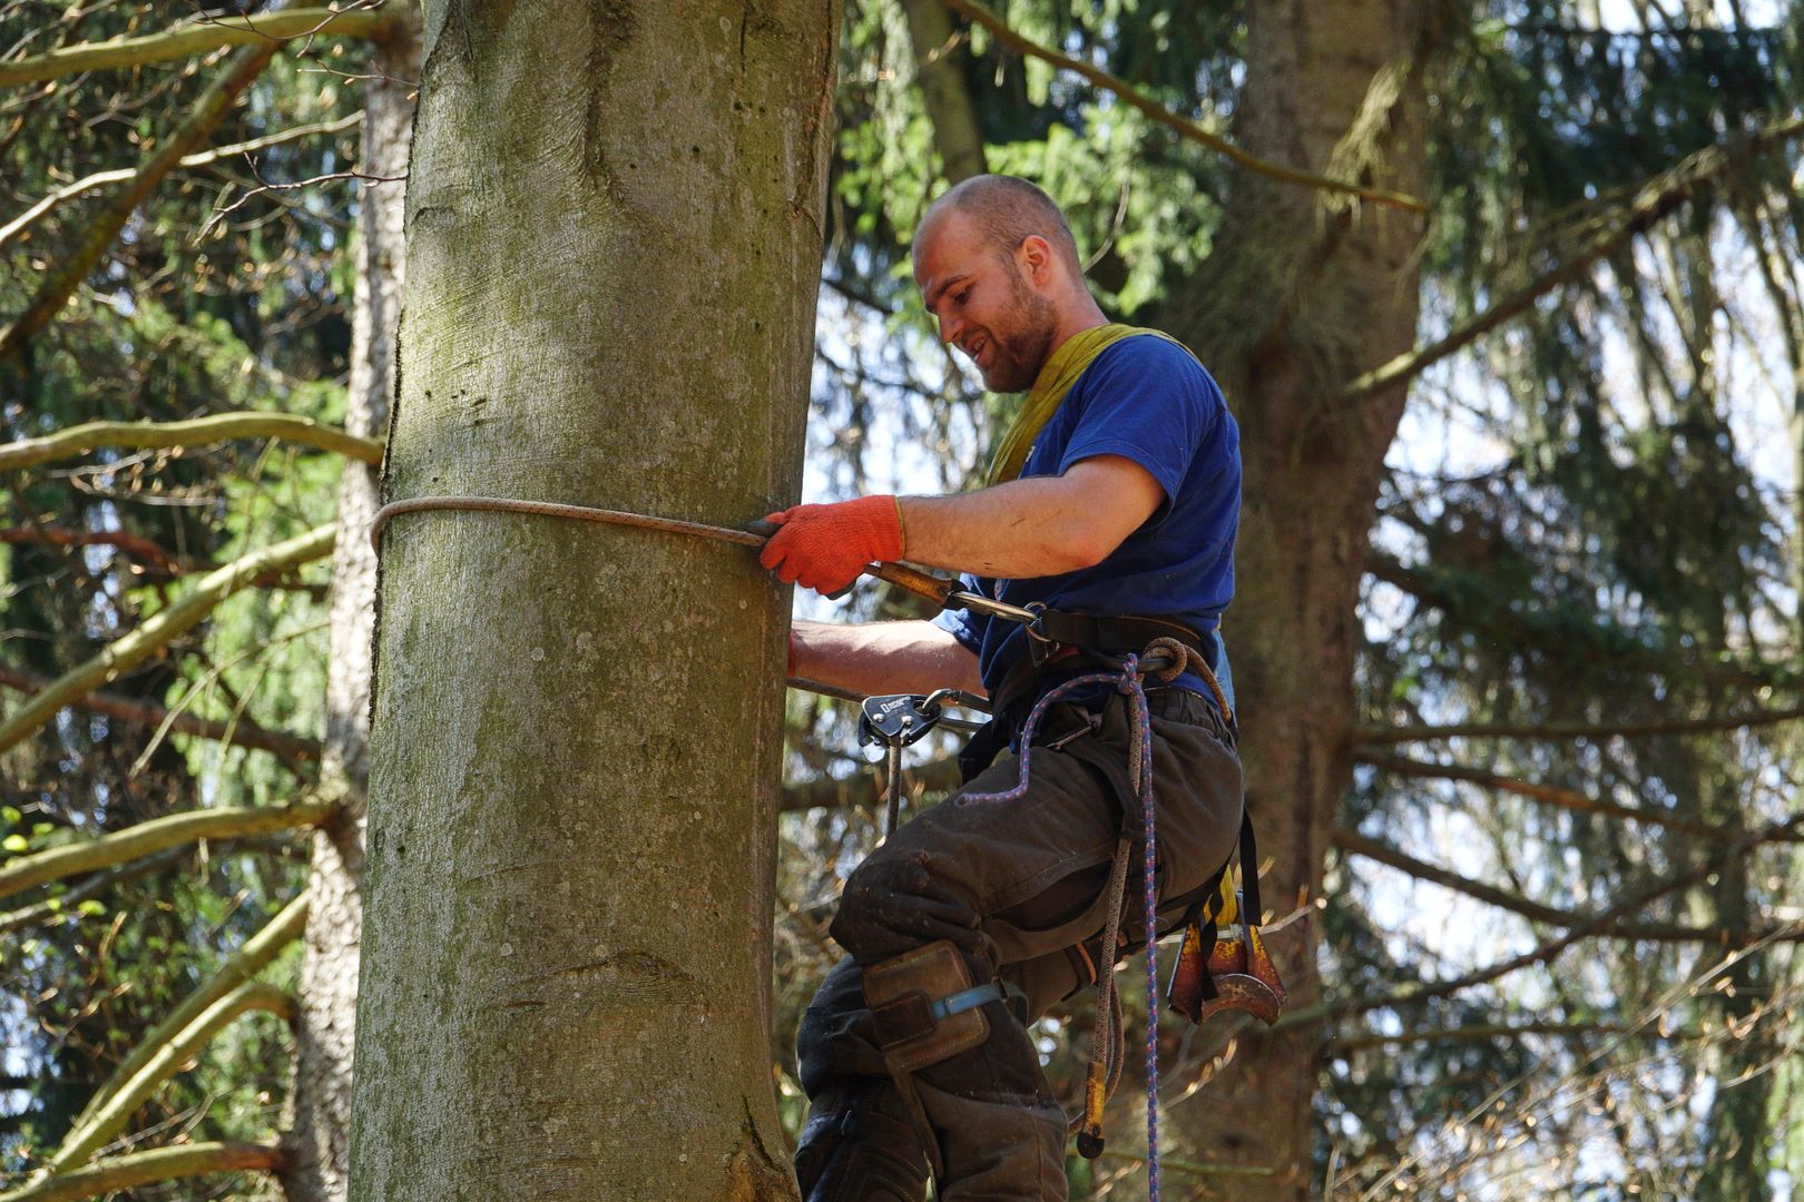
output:
<instances>
[{"instance_id":1,"label":"man's dark brown work pants","mask_svg":"<svg viewBox=\"0 0 1804 1202\"><path fill-rule=\"evenodd\" d=\"M1236 847L1241 769L1216 706L1178 688L1149 694L1156 791L1160 933L1176 926ZM1086 721L1088 719L1088 721ZM833 939L850 953L821 984L797 1033L801 1083L814 1103L797 1162L812 1200L835 1198L832 1180L808 1180L830 1159L830 1141L893 1125L842 1121L835 1110L893 1090L864 1004L861 964L879 964L947 939L974 982L1003 980L1025 997L1028 1020L1093 984L1108 899L1102 887L1122 831L1129 706L1113 696L1099 717L1077 706L1048 710L1032 748L1032 786L1010 802L960 804L965 793L1012 789L1014 755L965 789L904 824L846 879ZM1131 804L1131 802L1129 802ZM1122 930L1146 941L1142 861L1128 878ZM983 1006L989 1040L915 1074L934 1128L945 1202L1064 1198L1064 1114L1039 1056L1008 1006ZM879 1097L873 1101L873 1094ZM916 1161L920 1157L916 1155ZM832 1173L828 1173L832 1177ZM884 1195L889 1197L889 1195Z\"/></svg>"}]
</instances>

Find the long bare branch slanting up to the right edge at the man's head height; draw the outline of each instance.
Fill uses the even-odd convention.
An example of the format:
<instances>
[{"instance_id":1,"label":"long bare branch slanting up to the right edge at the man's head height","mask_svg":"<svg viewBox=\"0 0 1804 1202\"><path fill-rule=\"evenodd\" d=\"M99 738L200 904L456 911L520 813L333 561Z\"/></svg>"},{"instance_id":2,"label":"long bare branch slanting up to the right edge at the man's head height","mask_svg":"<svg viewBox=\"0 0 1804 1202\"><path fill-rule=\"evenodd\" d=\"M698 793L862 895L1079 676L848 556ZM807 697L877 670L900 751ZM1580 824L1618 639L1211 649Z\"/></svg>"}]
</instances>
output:
<instances>
[{"instance_id":1,"label":"long bare branch slanting up to the right edge at the man's head height","mask_svg":"<svg viewBox=\"0 0 1804 1202\"><path fill-rule=\"evenodd\" d=\"M951 4L954 0L947 2ZM1340 400L1366 400L1416 378L1440 360L1465 350L1503 323L1524 314L1537 299L1553 288L1573 283L1584 276L1598 260L1615 254L1627 245L1631 238L1649 229L1654 222L1661 220L1701 191L1714 187L1734 166L1743 164L1750 157L1772 146L1779 146L1799 133L1804 133L1804 117L1791 117L1788 121L1770 124L1737 142L1726 146L1707 146L1705 150L1687 157L1678 166L1647 180L1634 193L1634 200L1629 202L1613 229L1598 234L1577 252L1566 256L1555 267L1541 274L1537 279L1517 288L1501 301L1496 301L1490 308L1477 314L1458 330L1449 332L1445 337L1431 342L1429 346L1398 355L1391 362L1358 377L1348 384L1346 391L1340 393Z\"/></svg>"}]
</instances>

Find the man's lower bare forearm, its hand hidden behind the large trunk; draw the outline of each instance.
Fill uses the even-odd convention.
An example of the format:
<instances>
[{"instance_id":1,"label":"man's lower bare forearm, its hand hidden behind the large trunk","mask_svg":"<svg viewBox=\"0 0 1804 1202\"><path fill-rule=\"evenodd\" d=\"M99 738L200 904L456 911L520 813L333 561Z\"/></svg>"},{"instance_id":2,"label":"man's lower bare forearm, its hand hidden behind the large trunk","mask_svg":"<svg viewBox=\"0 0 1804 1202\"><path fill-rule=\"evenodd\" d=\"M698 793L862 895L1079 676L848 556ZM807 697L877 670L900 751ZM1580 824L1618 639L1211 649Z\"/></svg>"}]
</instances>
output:
<instances>
[{"instance_id":1,"label":"man's lower bare forearm, its hand hidden behind the large trunk","mask_svg":"<svg viewBox=\"0 0 1804 1202\"><path fill-rule=\"evenodd\" d=\"M931 622L792 627L796 676L866 696L963 688L983 694L978 658Z\"/></svg>"}]
</instances>

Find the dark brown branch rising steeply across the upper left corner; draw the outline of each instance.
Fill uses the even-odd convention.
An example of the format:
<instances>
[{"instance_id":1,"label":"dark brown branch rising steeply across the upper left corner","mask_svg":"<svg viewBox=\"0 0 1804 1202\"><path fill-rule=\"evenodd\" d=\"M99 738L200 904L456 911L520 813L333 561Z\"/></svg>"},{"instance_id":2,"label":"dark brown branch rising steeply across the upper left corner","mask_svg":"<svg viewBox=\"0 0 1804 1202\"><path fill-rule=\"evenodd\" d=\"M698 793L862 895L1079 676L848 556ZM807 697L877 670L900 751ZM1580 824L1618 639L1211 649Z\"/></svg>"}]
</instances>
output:
<instances>
[{"instance_id":1,"label":"dark brown branch rising steeply across the upper left corner","mask_svg":"<svg viewBox=\"0 0 1804 1202\"><path fill-rule=\"evenodd\" d=\"M263 18L258 18L263 20ZM18 355L25 342L29 342L40 330L51 324L51 319L61 312L69 297L76 294L76 288L94 265L101 261L106 249L112 247L114 238L124 229L126 220L137 209L144 198L162 182L177 162L191 153L215 126L226 119L231 112L233 103L238 94L251 87L251 83L263 74L263 67L276 54L280 41L271 41L260 38L256 45L247 45L245 49L226 59L226 70L207 85L206 92L195 101L193 108L182 119L168 139L157 144L153 150L146 151L144 159L139 162L132 180L126 187L121 187L114 196L101 205L99 213L94 216L94 223L81 234L76 245L63 256L58 263L45 274L43 283L38 287L38 294L25 306L11 324L0 326L0 364L7 362Z\"/></svg>"}]
</instances>

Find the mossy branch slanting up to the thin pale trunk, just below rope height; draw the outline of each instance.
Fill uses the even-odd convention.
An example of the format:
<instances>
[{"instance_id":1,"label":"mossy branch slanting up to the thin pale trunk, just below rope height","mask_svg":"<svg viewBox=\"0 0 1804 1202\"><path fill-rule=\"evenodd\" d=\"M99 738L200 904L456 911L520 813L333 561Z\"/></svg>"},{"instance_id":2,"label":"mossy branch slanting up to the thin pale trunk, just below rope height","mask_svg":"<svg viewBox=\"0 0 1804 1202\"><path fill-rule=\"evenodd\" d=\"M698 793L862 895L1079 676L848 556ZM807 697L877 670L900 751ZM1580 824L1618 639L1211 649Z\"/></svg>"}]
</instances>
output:
<instances>
[{"instance_id":1,"label":"mossy branch slanting up to the thin pale trunk, just below rope height","mask_svg":"<svg viewBox=\"0 0 1804 1202\"><path fill-rule=\"evenodd\" d=\"M159 649L168 647L171 640L198 625L222 600L249 586L262 573L294 568L330 555L334 537L334 526L319 526L296 539L267 546L216 571L209 571L191 593L168 609L159 611L135 631L115 640L85 663L63 672L45 690L32 696L18 712L0 723L0 751L27 739L63 706L78 705L101 685L117 679L121 672L133 669Z\"/></svg>"}]
</instances>

